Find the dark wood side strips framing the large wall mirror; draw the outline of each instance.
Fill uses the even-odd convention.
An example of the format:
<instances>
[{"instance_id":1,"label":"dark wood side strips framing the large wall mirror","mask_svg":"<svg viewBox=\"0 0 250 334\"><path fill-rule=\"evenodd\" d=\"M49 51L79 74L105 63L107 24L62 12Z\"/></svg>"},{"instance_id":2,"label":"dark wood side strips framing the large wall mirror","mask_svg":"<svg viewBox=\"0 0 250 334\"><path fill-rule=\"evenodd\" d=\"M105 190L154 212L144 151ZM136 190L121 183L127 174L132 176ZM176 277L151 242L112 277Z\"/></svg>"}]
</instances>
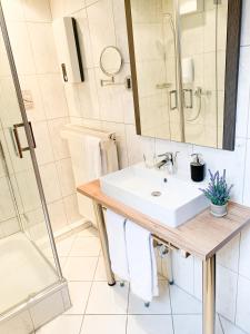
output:
<instances>
[{"instance_id":1,"label":"dark wood side strips framing the large wall mirror","mask_svg":"<svg viewBox=\"0 0 250 334\"><path fill-rule=\"evenodd\" d=\"M176 1L176 8L178 8L179 0L173 0L173 1ZM131 0L124 0L124 8L126 8L132 87L133 87L136 129L137 129L137 135L143 136L141 134L141 124L140 124L140 107L139 107L136 53L134 53L134 43L133 43ZM228 0L227 52L226 52L226 76L224 76L224 115L223 115L223 140L222 140L222 149L226 150L234 150L234 145L236 145L241 16L242 16L242 0ZM179 14L177 14L177 17L179 17ZM183 109L180 110L180 112L182 112L183 115Z\"/></svg>"}]
</instances>

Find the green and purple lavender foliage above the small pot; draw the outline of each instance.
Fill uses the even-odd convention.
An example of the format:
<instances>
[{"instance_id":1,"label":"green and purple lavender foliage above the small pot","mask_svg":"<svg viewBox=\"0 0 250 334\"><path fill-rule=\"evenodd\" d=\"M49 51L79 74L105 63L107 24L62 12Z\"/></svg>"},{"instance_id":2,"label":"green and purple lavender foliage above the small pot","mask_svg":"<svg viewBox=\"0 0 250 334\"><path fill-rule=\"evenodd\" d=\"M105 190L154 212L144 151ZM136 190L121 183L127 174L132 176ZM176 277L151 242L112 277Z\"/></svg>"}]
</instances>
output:
<instances>
[{"instance_id":1,"label":"green and purple lavender foliage above the small pot","mask_svg":"<svg viewBox=\"0 0 250 334\"><path fill-rule=\"evenodd\" d=\"M223 170L222 176L220 176L219 170L212 174L209 169L209 174L210 181L208 188L200 190L204 194L207 198L211 200L212 204L220 206L227 204L230 199L230 191L233 185L231 185L230 187L228 186L226 181L226 169Z\"/></svg>"}]
</instances>

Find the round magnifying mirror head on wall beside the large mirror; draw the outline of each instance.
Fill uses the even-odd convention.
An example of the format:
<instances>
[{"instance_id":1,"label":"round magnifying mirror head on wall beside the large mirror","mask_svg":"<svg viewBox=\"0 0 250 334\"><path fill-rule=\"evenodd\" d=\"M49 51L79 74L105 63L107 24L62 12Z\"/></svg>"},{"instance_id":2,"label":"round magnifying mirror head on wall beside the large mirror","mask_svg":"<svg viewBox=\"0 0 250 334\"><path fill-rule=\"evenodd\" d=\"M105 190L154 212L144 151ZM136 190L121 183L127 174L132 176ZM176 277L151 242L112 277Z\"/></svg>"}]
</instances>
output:
<instances>
[{"instance_id":1,"label":"round magnifying mirror head on wall beside the large mirror","mask_svg":"<svg viewBox=\"0 0 250 334\"><path fill-rule=\"evenodd\" d=\"M118 75L122 67L121 52L116 47L107 47L101 52L100 68L109 77Z\"/></svg>"}]
</instances>

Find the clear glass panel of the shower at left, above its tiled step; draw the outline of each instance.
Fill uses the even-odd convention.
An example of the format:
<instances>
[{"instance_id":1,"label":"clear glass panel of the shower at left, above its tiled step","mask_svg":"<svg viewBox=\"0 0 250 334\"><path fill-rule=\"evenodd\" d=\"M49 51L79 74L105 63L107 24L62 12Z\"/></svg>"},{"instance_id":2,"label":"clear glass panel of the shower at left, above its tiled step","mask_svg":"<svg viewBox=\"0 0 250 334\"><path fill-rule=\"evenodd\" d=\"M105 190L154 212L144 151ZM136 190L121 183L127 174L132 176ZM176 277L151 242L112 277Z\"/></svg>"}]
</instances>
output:
<instances>
[{"instance_id":1,"label":"clear glass panel of the shower at left, above its tiled step","mask_svg":"<svg viewBox=\"0 0 250 334\"><path fill-rule=\"evenodd\" d=\"M61 273L52 254L36 161L30 150L20 151L29 145L2 32L0 59L1 314L57 283Z\"/></svg>"}]
</instances>

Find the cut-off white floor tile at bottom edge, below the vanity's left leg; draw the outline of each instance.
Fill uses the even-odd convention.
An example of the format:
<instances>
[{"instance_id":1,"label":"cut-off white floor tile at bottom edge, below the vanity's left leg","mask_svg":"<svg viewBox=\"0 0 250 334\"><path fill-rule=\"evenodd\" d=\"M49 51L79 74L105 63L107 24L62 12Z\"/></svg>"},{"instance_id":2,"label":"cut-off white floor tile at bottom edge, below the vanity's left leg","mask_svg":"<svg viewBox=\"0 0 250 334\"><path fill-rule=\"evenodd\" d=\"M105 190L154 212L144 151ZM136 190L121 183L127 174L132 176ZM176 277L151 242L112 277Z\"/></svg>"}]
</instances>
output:
<instances>
[{"instance_id":1,"label":"cut-off white floor tile at bottom edge, below the vanity's left leg","mask_svg":"<svg viewBox=\"0 0 250 334\"><path fill-rule=\"evenodd\" d=\"M126 334L127 315L86 315L80 334Z\"/></svg>"}]
</instances>

